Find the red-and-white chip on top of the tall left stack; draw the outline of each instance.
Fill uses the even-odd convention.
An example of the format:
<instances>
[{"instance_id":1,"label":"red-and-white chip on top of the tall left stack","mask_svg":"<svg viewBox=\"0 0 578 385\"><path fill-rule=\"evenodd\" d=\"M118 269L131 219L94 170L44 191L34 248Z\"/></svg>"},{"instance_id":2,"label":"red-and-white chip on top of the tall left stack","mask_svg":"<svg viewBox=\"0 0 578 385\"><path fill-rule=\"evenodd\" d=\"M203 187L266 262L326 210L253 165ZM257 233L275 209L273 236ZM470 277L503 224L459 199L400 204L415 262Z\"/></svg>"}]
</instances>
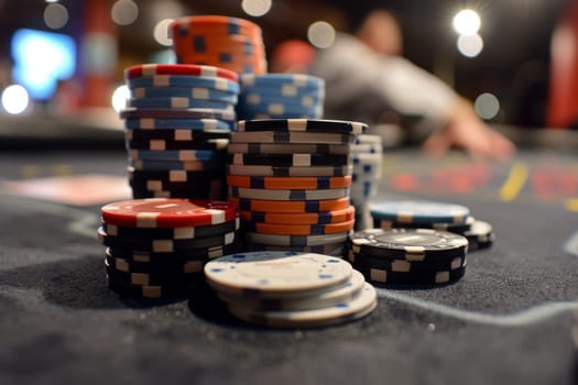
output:
<instances>
[{"instance_id":1,"label":"red-and-white chip on top of the tall left stack","mask_svg":"<svg viewBox=\"0 0 578 385\"><path fill-rule=\"evenodd\" d=\"M197 64L141 64L124 69L127 79L154 75L208 76L239 81L239 75L230 69Z\"/></svg>"}]
</instances>

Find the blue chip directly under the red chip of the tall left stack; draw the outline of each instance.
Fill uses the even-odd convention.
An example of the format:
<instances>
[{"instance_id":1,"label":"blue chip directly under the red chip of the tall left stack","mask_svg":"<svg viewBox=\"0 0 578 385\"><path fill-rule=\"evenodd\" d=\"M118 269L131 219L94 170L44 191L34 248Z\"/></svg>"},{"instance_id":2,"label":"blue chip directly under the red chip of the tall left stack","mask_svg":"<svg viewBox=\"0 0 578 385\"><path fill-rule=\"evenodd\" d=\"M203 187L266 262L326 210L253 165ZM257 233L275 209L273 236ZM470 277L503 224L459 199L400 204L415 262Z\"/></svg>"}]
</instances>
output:
<instances>
[{"instance_id":1,"label":"blue chip directly under the red chip of the tall left stack","mask_svg":"<svg viewBox=\"0 0 578 385\"><path fill-rule=\"evenodd\" d=\"M203 87L219 91L239 94L238 82L218 77L184 76L184 75L153 75L127 79L129 88L137 87Z\"/></svg>"}]
</instances>

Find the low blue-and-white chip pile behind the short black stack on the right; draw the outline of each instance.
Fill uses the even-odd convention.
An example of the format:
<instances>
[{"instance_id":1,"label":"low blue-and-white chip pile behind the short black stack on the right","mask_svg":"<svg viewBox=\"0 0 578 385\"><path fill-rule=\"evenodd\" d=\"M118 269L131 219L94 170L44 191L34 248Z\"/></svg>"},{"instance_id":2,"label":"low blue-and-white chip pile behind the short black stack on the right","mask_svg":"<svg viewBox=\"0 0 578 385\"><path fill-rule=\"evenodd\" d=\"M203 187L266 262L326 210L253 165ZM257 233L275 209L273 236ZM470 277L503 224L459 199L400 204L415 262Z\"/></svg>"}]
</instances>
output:
<instances>
[{"instance_id":1,"label":"low blue-and-white chip pile behind the short black stack on the right","mask_svg":"<svg viewBox=\"0 0 578 385\"><path fill-rule=\"evenodd\" d=\"M493 227L471 216L469 208L435 201L403 200L373 204L373 227L379 229L434 229L449 231L468 240L468 251L491 248Z\"/></svg>"}]
</instances>

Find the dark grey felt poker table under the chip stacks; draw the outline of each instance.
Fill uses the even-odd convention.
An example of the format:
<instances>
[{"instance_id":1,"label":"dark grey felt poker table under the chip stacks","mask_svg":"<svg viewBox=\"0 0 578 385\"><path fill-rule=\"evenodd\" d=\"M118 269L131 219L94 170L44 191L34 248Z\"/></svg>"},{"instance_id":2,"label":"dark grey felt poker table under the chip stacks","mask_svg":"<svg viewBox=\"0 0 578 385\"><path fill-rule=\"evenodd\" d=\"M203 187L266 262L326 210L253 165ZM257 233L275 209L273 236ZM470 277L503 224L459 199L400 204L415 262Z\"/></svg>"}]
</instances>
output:
<instances>
[{"instance_id":1,"label":"dark grey felt poker table under the chip stacks","mask_svg":"<svg viewBox=\"0 0 578 385\"><path fill-rule=\"evenodd\" d=\"M96 229L100 206L130 194L121 135L3 136L0 383L576 383L576 136L515 135L503 164L384 152L375 200L460 204L493 226L465 277L378 287L359 321L290 330L238 321L204 289L155 301L109 290Z\"/></svg>"}]
</instances>

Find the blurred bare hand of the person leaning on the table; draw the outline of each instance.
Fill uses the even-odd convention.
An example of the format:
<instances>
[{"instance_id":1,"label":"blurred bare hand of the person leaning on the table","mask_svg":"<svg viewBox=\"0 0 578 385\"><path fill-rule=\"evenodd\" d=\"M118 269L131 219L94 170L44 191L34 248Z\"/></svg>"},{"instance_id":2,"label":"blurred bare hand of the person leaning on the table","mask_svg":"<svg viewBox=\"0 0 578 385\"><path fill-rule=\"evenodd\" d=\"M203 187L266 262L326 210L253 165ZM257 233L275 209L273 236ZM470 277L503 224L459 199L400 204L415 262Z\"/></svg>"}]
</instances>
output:
<instances>
[{"instance_id":1,"label":"blurred bare hand of the person leaning on the table","mask_svg":"<svg viewBox=\"0 0 578 385\"><path fill-rule=\"evenodd\" d=\"M515 154L515 145L484 124L465 100L459 100L450 113L449 123L424 142L422 148L427 155L441 156L451 147L462 148L475 158L495 161L508 161Z\"/></svg>"}]
</instances>

